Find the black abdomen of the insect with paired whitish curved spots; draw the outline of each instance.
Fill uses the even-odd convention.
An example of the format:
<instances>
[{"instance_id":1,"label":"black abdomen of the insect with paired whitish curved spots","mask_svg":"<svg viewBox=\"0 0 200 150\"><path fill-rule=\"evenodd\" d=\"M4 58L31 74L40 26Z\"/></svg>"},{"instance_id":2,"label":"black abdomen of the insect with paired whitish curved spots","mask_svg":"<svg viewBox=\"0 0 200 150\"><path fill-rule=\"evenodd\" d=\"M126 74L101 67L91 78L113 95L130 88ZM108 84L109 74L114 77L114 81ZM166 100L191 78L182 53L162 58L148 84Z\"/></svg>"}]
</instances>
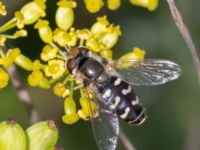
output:
<instances>
[{"instance_id":1,"label":"black abdomen of the insect with paired whitish curved spots","mask_svg":"<svg viewBox=\"0 0 200 150\"><path fill-rule=\"evenodd\" d=\"M116 76L110 76L104 83L97 83L98 93L102 100L117 115L130 124L141 124L145 120L144 110L139 104L132 87Z\"/></svg>"}]
</instances>

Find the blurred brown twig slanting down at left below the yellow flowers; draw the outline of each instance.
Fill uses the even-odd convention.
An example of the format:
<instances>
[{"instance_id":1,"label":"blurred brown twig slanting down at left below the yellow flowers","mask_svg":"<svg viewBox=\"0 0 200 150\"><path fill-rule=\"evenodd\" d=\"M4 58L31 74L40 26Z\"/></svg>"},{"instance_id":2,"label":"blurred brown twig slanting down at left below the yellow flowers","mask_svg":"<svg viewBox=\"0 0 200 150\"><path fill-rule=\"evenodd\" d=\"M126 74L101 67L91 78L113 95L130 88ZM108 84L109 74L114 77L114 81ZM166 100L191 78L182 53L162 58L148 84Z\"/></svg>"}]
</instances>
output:
<instances>
[{"instance_id":1,"label":"blurred brown twig slanting down at left below the yellow flowers","mask_svg":"<svg viewBox=\"0 0 200 150\"><path fill-rule=\"evenodd\" d=\"M19 100L23 103L26 111L28 112L30 123L34 124L38 122L40 120L39 114L32 103L32 100L30 98L30 95L26 87L24 87L21 82L16 66L12 65L11 67L7 69L7 71L10 76L13 87L17 91Z\"/></svg>"}]
</instances>

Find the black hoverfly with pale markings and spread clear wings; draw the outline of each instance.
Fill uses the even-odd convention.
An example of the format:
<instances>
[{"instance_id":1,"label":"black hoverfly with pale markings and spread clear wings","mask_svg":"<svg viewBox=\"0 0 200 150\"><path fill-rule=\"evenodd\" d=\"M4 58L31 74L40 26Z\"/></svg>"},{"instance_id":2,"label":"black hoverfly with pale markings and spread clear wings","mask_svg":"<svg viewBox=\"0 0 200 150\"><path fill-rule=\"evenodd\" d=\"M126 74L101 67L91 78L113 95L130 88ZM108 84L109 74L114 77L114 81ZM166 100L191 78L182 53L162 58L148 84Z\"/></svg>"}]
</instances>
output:
<instances>
[{"instance_id":1,"label":"black hoverfly with pale markings and spread clear wings","mask_svg":"<svg viewBox=\"0 0 200 150\"><path fill-rule=\"evenodd\" d=\"M118 118L131 125L145 121L145 111L131 85L159 85L174 80L181 68L161 59L104 60L86 47L68 52L67 70L81 79L94 93L99 115L92 122L93 133L101 150L115 150L119 133Z\"/></svg>"}]
</instances>

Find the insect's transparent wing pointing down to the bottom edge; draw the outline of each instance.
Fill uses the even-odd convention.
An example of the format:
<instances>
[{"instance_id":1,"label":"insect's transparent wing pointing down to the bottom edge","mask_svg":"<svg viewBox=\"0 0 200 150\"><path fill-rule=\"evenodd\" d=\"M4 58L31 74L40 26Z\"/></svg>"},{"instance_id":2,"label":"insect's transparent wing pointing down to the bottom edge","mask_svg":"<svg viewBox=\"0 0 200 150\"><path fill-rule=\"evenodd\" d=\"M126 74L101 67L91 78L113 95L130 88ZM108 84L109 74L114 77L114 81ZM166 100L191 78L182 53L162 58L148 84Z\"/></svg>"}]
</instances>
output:
<instances>
[{"instance_id":1,"label":"insect's transparent wing pointing down to the bottom edge","mask_svg":"<svg viewBox=\"0 0 200 150\"><path fill-rule=\"evenodd\" d=\"M95 141L100 150L115 150L119 134L119 121L116 112L103 106L97 97L94 97L93 101L98 107L98 116L92 115L91 118Z\"/></svg>"}]
</instances>

